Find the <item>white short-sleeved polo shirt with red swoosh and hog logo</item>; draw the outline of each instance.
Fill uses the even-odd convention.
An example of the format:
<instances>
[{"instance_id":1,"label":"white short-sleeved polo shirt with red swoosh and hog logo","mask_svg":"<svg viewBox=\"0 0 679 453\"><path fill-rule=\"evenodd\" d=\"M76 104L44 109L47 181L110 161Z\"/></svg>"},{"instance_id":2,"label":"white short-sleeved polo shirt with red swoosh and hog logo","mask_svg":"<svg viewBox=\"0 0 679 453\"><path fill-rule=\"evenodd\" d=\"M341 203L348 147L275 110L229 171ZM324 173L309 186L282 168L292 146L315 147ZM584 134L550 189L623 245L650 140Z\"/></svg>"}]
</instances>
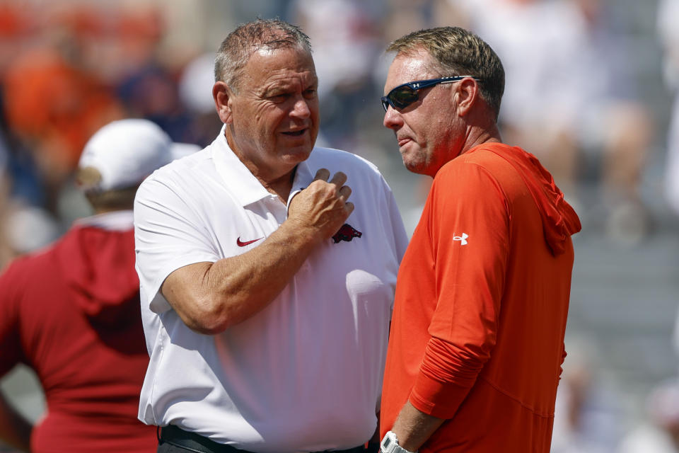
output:
<instances>
[{"instance_id":1,"label":"white short-sleeved polo shirt with red swoosh and hog logo","mask_svg":"<svg viewBox=\"0 0 679 453\"><path fill-rule=\"evenodd\" d=\"M163 280L182 266L257 247L284 222L286 206L228 148L224 130L141 185L134 224L151 356L144 423L171 423L253 452L347 449L373 435L407 236L375 166L315 148L298 165L293 192L318 168L347 174L353 230L311 253L260 313L214 336L185 326L159 292Z\"/></svg>"}]
</instances>

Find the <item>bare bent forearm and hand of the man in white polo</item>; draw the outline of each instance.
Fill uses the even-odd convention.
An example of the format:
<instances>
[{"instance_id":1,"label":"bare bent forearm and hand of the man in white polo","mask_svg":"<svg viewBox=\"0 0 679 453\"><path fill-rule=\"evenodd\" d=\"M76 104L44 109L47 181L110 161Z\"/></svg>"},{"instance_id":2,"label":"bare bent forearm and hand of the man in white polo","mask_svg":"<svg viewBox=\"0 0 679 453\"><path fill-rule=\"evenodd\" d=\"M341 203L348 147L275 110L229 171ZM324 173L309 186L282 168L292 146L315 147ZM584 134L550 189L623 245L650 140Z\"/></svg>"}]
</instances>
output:
<instances>
[{"instance_id":1,"label":"bare bent forearm and hand of the man in white polo","mask_svg":"<svg viewBox=\"0 0 679 453\"><path fill-rule=\"evenodd\" d=\"M161 292L194 331L214 335L259 313L277 297L304 260L337 233L354 210L347 176L320 169L290 202L288 218L259 246L215 263L170 273Z\"/></svg>"}]
</instances>

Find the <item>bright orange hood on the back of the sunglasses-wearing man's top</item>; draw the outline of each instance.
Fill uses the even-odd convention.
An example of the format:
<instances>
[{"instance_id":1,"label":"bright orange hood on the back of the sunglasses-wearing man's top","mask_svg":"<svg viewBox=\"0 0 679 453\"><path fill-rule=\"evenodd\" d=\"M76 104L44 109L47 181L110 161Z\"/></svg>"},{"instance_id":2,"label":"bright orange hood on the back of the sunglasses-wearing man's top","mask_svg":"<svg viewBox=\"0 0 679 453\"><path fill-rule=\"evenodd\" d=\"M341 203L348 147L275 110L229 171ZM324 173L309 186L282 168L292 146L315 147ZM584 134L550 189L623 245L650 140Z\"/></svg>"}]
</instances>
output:
<instances>
[{"instance_id":1,"label":"bright orange hood on the back of the sunglasses-wearing man's top","mask_svg":"<svg viewBox=\"0 0 679 453\"><path fill-rule=\"evenodd\" d=\"M481 145L479 148L492 151L516 168L538 206L547 245L554 255L564 253L567 239L580 231L582 226L578 214L564 200L564 194L554 183L550 172L533 154L521 148L497 143L488 147Z\"/></svg>"}]
</instances>

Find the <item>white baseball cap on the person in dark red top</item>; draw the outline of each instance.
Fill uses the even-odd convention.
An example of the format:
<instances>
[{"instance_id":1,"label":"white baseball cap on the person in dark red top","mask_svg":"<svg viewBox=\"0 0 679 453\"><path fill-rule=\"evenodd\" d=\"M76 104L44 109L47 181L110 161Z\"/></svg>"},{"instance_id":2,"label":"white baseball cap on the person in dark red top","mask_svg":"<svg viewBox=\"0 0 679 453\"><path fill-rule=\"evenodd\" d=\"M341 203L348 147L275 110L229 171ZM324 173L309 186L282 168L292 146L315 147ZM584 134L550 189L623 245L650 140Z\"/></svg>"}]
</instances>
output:
<instances>
[{"instance_id":1,"label":"white baseball cap on the person in dark red top","mask_svg":"<svg viewBox=\"0 0 679 453\"><path fill-rule=\"evenodd\" d=\"M101 178L95 183L81 185L81 189L100 192L134 187L157 168L173 161L175 150L179 149L176 145L152 121L110 122L85 144L78 166L95 168Z\"/></svg>"}]
</instances>

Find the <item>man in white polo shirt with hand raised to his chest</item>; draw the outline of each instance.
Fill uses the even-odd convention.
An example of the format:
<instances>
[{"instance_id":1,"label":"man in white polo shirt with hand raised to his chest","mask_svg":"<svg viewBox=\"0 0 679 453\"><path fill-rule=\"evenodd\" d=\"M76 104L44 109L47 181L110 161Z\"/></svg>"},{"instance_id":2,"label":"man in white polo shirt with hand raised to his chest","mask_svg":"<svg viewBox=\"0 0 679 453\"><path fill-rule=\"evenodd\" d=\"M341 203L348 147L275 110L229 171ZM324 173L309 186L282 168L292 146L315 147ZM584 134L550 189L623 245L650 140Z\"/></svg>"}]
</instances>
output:
<instances>
[{"instance_id":1,"label":"man in white polo shirt with hand raised to his chest","mask_svg":"<svg viewBox=\"0 0 679 453\"><path fill-rule=\"evenodd\" d=\"M294 25L240 25L215 74L219 136L134 205L139 418L162 427L158 452L361 452L407 245L394 197L372 164L314 147L318 80Z\"/></svg>"}]
</instances>

